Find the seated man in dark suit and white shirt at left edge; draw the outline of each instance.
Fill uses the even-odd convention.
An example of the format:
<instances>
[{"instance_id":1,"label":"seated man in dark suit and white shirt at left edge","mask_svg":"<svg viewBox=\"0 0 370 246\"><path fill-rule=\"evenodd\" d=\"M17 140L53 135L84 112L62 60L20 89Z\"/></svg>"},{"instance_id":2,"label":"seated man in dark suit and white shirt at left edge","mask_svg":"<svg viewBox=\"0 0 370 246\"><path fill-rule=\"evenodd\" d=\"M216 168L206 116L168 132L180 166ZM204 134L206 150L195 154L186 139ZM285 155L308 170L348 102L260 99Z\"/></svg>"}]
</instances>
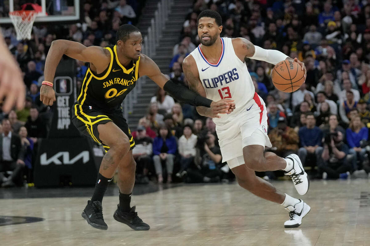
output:
<instances>
[{"instance_id":1,"label":"seated man in dark suit and white shirt at left edge","mask_svg":"<svg viewBox=\"0 0 370 246\"><path fill-rule=\"evenodd\" d=\"M15 132L11 132L9 119L3 119L1 124L3 133L0 135L0 173L13 171L7 179L1 175L1 187L13 187L16 184L23 185L21 172L24 167L24 149L21 139Z\"/></svg>"}]
</instances>

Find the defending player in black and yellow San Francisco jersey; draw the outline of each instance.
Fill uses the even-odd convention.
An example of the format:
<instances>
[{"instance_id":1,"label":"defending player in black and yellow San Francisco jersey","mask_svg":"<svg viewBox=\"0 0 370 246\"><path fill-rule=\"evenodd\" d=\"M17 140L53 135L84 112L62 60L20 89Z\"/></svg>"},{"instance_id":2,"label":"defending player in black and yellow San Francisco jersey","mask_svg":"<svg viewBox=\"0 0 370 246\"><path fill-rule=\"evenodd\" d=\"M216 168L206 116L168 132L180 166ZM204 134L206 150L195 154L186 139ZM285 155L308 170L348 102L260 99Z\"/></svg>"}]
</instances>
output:
<instances>
[{"instance_id":1,"label":"defending player in black and yellow San Francisco jersey","mask_svg":"<svg viewBox=\"0 0 370 246\"><path fill-rule=\"evenodd\" d=\"M147 75L184 103L207 107L207 115L212 118L233 111L235 104L225 99L213 102L168 80L153 60L141 54L142 36L135 26L122 25L116 37L116 45L107 48L85 47L67 40L53 41L46 58L45 81L40 89L40 100L46 105L53 105L55 92L51 82L63 54L90 63L72 109L72 121L79 131L103 145L106 153L100 165L94 194L87 202L82 216L94 228L108 229L103 219L101 202L118 168L120 203L113 217L134 230L149 230L149 225L135 212L135 206L130 206L135 182L136 163L132 157L135 142L120 108L124 98L134 89L138 77Z\"/></svg>"}]
</instances>

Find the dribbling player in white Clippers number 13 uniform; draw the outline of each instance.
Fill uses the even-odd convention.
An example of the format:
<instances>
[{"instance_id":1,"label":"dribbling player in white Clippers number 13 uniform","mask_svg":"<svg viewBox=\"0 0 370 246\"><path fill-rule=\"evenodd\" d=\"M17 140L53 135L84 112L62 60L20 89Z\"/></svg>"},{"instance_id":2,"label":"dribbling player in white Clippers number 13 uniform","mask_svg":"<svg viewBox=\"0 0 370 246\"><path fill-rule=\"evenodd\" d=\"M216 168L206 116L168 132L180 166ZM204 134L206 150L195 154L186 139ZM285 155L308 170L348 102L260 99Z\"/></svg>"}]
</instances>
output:
<instances>
[{"instance_id":1,"label":"dribbling player in white Clippers number 13 uniform","mask_svg":"<svg viewBox=\"0 0 370 246\"><path fill-rule=\"evenodd\" d=\"M286 228L297 227L310 211L309 205L276 190L272 184L257 177L255 171L285 170L300 195L306 194L309 188L307 173L297 155L284 159L272 152L264 153L265 146L271 147L266 106L255 93L244 62L248 57L275 65L293 59L280 51L262 49L244 38L220 38L222 19L216 11L202 11L197 22L201 44L183 63L189 87L213 101L230 98L236 106L233 112L213 119L222 160L228 163L241 187L279 203L289 211L290 219L284 223ZM295 60L305 70L306 77L305 65ZM196 110L200 115L209 115L206 107L196 107Z\"/></svg>"}]
</instances>

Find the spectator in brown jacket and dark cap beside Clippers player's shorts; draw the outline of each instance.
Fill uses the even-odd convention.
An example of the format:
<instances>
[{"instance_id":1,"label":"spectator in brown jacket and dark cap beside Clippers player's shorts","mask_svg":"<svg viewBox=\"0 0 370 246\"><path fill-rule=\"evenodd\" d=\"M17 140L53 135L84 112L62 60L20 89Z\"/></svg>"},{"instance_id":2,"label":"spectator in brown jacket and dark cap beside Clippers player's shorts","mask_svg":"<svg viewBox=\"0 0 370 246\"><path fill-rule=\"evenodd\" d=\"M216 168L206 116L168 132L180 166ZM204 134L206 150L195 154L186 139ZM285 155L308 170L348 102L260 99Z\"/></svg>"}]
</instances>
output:
<instances>
[{"instance_id":1,"label":"spectator in brown jacket and dark cap beside Clippers player's shorts","mask_svg":"<svg viewBox=\"0 0 370 246\"><path fill-rule=\"evenodd\" d=\"M273 150L276 155L285 157L297 153L299 136L293 128L287 126L284 117L279 117L277 128L269 132L269 138L272 147L276 148Z\"/></svg>"}]
</instances>

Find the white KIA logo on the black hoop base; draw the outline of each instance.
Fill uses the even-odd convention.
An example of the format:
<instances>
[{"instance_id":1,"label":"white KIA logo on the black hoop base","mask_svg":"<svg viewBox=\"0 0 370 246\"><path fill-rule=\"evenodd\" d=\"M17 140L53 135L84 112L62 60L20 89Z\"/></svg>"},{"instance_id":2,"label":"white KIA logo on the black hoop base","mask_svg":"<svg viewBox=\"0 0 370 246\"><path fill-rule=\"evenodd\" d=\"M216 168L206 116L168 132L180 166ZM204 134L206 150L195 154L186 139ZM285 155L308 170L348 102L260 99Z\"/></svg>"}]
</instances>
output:
<instances>
[{"instance_id":1,"label":"white KIA logo on the black hoop base","mask_svg":"<svg viewBox=\"0 0 370 246\"><path fill-rule=\"evenodd\" d=\"M60 157L63 157L62 158L63 161L59 160ZM90 160L89 152L87 150L85 150L85 151L79 153L77 156L75 156L72 159L70 159L70 153L67 152L67 151L58 152L57 154L51 156L49 159L47 159L46 153L43 153L40 156L40 164L43 165L43 166L46 166L50 163L54 163L55 165L61 165L61 164L68 165L68 164L76 163L81 158L82 158L82 162L84 164L87 163Z\"/></svg>"}]
</instances>

